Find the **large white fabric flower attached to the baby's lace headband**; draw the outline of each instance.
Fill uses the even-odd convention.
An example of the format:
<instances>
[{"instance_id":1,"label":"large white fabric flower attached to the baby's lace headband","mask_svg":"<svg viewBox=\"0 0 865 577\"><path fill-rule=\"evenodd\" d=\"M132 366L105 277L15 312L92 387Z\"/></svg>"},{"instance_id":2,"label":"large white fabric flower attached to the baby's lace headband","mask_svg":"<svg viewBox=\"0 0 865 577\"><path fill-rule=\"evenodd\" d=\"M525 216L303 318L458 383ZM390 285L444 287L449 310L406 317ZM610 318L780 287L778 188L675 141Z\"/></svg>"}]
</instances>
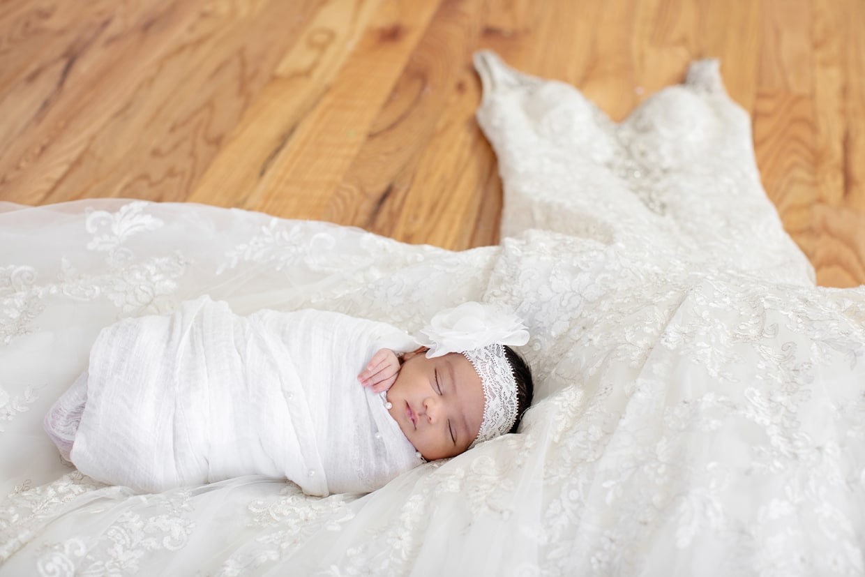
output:
<instances>
[{"instance_id":1,"label":"large white fabric flower attached to the baby's lace headband","mask_svg":"<svg viewBox=\"0 0 865 577\"><path fill-rule=\"evenodd\" d=\"M493 305L468 302L439 312L420 332L429 347L428 358L462 353L490 344L520 346L529 342L529 330L515 314Z\"/></svg>"}]
</instances>

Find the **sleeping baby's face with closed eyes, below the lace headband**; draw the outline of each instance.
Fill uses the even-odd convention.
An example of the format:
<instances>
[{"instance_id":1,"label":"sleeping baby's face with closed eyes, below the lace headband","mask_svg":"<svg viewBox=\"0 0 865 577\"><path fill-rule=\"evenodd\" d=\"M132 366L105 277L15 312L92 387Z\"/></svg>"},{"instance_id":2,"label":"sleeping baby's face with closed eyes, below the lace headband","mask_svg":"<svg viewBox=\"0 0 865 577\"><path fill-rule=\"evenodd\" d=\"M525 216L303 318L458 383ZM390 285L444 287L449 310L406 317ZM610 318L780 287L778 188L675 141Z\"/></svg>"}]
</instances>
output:
<instances>
[{"instance_id":1,"label":"sleeping baby's face with closed eyes, below the lace headband","mask_svg":"<svg viewBox=\"0 0 865 577\"><path fill-rule=\"evenodd\" d=\"M484 387L465 356L406 355L388 389L389 413L427 460L465 452L484 420Z\"/></svg>"}]
</instances>

